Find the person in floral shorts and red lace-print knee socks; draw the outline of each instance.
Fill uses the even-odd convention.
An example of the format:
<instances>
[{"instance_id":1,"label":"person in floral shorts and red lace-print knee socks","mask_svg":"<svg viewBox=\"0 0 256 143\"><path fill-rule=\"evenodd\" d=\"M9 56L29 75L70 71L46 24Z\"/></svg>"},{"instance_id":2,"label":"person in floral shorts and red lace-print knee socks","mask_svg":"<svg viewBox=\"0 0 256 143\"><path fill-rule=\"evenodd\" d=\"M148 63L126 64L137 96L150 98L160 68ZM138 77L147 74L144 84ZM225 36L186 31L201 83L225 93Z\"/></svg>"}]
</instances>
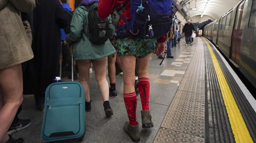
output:
<instances>
[{"instance_id":1,"label":"person in floral shorts and red lace-print knee socks","mask_svg":"<svg viewBox=\"0 0 256 143\"><path fill-rule=\"evenodd\" d=\"M98 12L101 18L107 18L115 5L120 6L125 0L99 0ZM130 1L126 4L122 16L130 19ZM112 13L111 13L112 14ZM124 24L120 18L117 26ZM165 36L158 38L157 55L165 50ZM136 121L137 99L135 93L135 64L137 65L138 85L142 102L142 127L154 127L149 111L150 81L148 78L147 66L152 53L155 51L155 39L124 38L117 39L118 55L120 55L124 81L124 103L127 110L129 121L124 124L125 132L133 142L139 142L139 124ZM137 63L136 63L137 59Z\"/></svg>"}]
</instances>

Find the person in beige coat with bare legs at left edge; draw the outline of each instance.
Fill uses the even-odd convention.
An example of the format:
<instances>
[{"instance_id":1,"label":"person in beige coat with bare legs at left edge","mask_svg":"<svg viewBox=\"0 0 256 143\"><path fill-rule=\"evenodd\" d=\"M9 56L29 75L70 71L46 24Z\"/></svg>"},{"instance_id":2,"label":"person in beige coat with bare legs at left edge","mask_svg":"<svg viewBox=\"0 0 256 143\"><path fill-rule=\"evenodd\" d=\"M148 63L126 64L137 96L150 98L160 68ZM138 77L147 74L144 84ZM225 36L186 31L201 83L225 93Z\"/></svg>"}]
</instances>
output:
<instances>
[{"instance_id":1,"label":"person in beige coat with bare legs at left edge","mask_svg":"<svg viewBox=\"0 0 256 143\"><path fill-rule=\"evenodd\" d=\"M20 18L30 12L34 0L0 0L0 142L24 143L7 134L22 104L22 63L32 59L33 51ZM21 108L20 108L21 109Z\"/></svg>"}]
</instances>

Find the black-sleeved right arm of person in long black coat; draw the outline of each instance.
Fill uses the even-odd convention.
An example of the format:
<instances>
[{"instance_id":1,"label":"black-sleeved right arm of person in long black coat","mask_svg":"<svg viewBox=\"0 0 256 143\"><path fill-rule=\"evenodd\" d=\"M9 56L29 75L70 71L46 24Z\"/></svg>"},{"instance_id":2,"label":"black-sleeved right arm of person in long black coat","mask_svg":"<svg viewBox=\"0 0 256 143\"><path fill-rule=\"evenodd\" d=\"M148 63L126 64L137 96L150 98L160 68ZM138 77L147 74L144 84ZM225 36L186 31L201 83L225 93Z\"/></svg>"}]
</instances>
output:
<instances>
[{"instance_id":1,"label":"black-sleeved right arm of person in long black coat","mask_svg":"<svg viewBox=\"0 0 256 143\"><path fill-rule=\"evenodd\" d=\"M64 11L62 5L60 4L59 1L54 0L52 2L53 4L56 4L56 11L55 11L55 20L56 23L58 24L58 26L60 28L65 28L66 26L68 26L68 15L67 13Z\"/></svg>"}]
</instances>

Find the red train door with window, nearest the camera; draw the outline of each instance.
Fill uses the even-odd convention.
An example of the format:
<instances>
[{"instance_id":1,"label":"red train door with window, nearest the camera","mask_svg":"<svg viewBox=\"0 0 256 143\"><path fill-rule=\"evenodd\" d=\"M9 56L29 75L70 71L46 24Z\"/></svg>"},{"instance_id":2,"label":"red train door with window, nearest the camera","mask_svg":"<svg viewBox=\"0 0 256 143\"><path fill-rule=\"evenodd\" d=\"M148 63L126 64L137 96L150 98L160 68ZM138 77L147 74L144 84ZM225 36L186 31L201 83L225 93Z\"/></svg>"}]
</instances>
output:
<instances>
[{"instance_id":1,"label":"red train door with window, nearest the camera","mask_svg":"<svg viewBox=\"0 0 256 143\"><path fill-rule=\"evenodd\" d=\"M241 38L247 3L248 0L246 0L244 3L241 3L237 8L235 25L232 34L231 59L237 63L238 66L240 64Z\"/></svg>"}]
</instances>

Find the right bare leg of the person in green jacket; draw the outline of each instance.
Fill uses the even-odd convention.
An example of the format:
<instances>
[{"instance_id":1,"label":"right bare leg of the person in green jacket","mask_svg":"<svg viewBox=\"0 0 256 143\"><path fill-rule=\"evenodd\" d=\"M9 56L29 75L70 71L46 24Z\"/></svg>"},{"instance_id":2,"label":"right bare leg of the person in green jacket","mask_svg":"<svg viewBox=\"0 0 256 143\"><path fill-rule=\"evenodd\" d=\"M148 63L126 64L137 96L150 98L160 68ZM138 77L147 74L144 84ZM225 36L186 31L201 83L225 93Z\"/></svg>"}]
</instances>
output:
<instances>
[{"instance_id":1,"label":"right bare leg of the person in green jacket","mask_svg":"<svg viewBox=\"0 0 256 143\"><path fill-rule=\"evenodd\" d=\"M106 66L107 66L107 57L101 59L92 60L95 77L99 84L99 90L101 91L101 96L103 101L109 100L109 85L106 80Z\"/></svg>"}]
</instances>

